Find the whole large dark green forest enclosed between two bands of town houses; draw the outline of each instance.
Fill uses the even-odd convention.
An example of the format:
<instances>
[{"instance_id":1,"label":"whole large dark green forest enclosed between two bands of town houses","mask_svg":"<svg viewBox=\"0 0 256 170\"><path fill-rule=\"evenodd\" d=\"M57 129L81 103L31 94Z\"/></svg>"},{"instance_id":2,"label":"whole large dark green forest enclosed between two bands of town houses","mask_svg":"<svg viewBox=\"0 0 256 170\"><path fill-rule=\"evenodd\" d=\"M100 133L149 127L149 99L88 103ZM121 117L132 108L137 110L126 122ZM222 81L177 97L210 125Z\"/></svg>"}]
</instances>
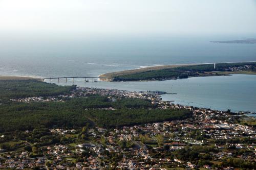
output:
<instances>
[{"instance_id":1,"label":"whole large dark green forest enclosed between two bands of town houses","mask_svg":"<svg viewBox=\"0 0 256 170\"><path fill-rule=\"evenodd\" d=\"M113 107L116 110L101 108ZM148 109L148 108L151 108ZM187 110L157 110L149 101L122 99L109 101L103 96L75 98L66 102L9 103L0 107L0 132L91 126L114 127L186 118Z\"/></svg>"}]
</instances>

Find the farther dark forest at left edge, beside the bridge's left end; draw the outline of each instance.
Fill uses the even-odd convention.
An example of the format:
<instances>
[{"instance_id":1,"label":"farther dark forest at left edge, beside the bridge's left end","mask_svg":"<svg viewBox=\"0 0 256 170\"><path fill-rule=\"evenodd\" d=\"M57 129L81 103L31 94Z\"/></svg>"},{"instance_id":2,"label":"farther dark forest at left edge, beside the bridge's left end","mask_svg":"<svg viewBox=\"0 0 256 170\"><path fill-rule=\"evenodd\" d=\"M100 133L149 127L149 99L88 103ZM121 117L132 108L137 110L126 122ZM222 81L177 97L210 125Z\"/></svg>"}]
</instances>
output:
<instances>
[{"instance_id":1,"label":"farther dark forest at left edge, beside the bridge's left end","mask_svg":"<svg viewBox=\"0 0 256 170\"><path fill-rule=\"evenodd\" d=\"M58 86L36 80L2 80L0 81L0 102L1 99L67 94L75 88L74 85Z\"/></svg>"}]
</instances>

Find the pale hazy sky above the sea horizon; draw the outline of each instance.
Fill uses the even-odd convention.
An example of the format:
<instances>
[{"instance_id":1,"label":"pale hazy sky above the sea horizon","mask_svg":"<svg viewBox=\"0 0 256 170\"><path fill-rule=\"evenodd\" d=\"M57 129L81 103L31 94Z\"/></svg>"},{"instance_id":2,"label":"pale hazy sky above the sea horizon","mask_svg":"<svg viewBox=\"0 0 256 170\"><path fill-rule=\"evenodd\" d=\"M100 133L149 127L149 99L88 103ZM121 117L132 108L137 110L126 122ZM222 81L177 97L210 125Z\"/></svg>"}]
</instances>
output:
<instances>
[{"instance_id":1,"label":"pale hazy sky above the sea horizon","mask_svg":"<svg viewBox=\"0 0 256 170\"><path fill-rule=\"evenodd\" d=\"M256 0L0 0L0 33L256 33Z\"/></svg>"}]
</instances>

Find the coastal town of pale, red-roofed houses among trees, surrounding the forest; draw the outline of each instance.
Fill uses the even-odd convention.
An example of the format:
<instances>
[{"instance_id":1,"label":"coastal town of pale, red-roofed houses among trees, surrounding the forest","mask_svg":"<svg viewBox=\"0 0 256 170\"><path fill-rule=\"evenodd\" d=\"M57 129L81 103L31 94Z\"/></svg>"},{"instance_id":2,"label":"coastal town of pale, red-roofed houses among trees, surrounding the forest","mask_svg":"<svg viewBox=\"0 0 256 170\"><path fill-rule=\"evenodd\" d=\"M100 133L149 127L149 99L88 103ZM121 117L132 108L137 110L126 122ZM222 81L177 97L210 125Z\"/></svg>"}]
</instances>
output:
<instances>
[{"instance_id":1,"label":"coastal town of pale, red-roofed houses among trees, surrounding the forest","mask_svg":"<svg viewBox=\"0 0 256 170\"><path fill-rule=\"evenodd\" d=\"M246 122L254 117L230 110L218 111L162 101L154 91L76 87L69 95L11 99L12 102L65 102L88 95L151 101L158 109L187 109L193 115L183 120L155 122L106 129L53 127L49 134L60 136L54 144L19 141L13 147L2 144L0 168L15 169L244 169L255 167L256 130ZM102 108L101 108L102 109ZM115 108L103 108L114 110ZM250 113L255 115L255 113ZM25 131L24 134L35 132ZM8 135L0 134L0 140ZM42 140L44 136L41 136ZM186 156L185 156L186 155Z\"/></svg>"}]
</instances>

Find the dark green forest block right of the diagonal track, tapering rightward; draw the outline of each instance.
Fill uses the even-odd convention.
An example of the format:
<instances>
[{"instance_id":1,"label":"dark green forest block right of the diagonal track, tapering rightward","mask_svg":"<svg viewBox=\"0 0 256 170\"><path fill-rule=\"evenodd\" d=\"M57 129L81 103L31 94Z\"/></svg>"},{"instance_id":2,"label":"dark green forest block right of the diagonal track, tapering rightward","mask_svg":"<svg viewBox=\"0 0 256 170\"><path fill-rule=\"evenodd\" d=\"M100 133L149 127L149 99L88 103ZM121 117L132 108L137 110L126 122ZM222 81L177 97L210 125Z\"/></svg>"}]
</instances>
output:
<instances>
[{"instance_id":1,"label":"dark green forest block right of the diagonal track, tapering rightward","mask_svg":"<svg viewBox=\"0 0 256 170\"><path fill-rule=\"evenodd\" d=\"M115 111L91 112L90 117L98 126L105 128L184 119L191 116L188 110L176 109L119 109Z\"/></svg>"}]
</instances>

